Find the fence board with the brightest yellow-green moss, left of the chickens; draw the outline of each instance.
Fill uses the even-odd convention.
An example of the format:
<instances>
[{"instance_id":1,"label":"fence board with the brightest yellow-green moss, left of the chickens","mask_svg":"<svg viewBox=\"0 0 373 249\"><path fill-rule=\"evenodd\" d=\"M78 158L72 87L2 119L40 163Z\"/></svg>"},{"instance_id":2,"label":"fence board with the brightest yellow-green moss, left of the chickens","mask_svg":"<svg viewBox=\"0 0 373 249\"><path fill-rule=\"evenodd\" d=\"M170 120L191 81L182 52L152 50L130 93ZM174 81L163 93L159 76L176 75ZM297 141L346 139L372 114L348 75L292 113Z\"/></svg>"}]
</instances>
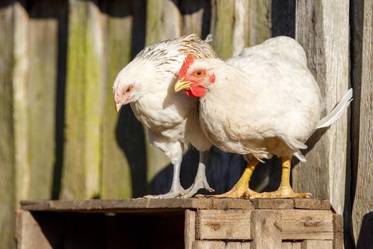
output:
<instances>
[{"instance_id":1,"label":"fence board with the brightest yellow-green moss, left of the chickens","mask_svg":"<svg viewBox=\"0 0 373 249\"><path fill-rule=\"evenodd\" d=\"M70 1L61 198L99 196L103 31L99 8Z\"/></svg>"}]
</instances>

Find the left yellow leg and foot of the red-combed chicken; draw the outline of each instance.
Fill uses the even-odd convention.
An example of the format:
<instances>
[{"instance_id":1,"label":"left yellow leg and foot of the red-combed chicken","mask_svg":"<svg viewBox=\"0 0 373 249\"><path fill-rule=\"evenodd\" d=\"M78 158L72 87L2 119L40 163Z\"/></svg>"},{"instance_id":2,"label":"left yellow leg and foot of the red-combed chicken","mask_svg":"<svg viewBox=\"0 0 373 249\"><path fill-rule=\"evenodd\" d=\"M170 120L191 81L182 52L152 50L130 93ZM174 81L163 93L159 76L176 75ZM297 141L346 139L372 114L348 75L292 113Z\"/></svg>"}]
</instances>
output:
<instances>
[{"instance_id":1,"label":"left yellow leg and foot of the red-combed chicken","mask_svg":"<svg viewBox=\"0 0 373 249\"><path fill-rule=\"evenodd\" d=\"M249 189L249 181L250 177L252 176L252 172L254 171L256 165L258 165L259 161L253 159L250 161L246 169L244 170L244 174L242 174L237 184L233 186L231 190L226 192L225 194L215 194L210 196L205 196L202 194L198 194L197 198L249 198L252 194L257 194L255 191Z\"/></svg>"}]
</instances>

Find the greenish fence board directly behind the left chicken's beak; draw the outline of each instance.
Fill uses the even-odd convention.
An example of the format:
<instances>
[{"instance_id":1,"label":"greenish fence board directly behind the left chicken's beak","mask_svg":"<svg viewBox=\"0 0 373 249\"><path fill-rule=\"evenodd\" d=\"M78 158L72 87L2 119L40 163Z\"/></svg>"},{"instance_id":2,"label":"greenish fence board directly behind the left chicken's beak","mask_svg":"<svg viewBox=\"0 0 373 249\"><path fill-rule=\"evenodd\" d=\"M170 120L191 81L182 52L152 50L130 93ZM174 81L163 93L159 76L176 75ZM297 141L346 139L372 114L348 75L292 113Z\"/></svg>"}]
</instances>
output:
<instances>
[{"instance_id":1,"label":"greenish fence board directly behind the left chicken's beak","mask_svg":"<svg viewBox=\"0 0 373 249\"><path fill-rule=\"evenodd\" d=\"M131 174L126 155L119 147L112 83L121 68L131 59L132 16L129 1L111 1L107 12L107 80L102 122L102 198L131 197ZM124 107L122 107L124 108ZM144 155L138 155L144 157Z\"/></svg>"}]
</instances>

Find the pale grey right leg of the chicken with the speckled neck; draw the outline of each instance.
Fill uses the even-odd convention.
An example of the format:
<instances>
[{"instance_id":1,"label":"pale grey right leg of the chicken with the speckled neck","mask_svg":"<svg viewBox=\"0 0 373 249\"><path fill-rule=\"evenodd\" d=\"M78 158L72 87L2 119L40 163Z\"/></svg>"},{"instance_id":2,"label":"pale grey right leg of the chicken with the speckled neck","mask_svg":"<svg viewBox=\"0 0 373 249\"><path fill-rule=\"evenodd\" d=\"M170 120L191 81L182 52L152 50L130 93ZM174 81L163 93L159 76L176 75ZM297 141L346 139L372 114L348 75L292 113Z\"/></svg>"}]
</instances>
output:
<instances>
[{"instance_id":1,"label":"pale grey right leg of the chicken with the speckled neck","mask_svg":"<svg viewBox=\"0 0 373 249\"><path fill-rule=\"evenodd\" d=\"M195 175L195 180L189 189L185 190L185 194L180 196L181 198L189 198L194 196L199 189L206 189L209 192L213 192L214 189L210 188L210 185L206 179L205 165L207 164L208 151L200 152L200 162L198 164L197 174Z\"/></svg>"}]
</instances>

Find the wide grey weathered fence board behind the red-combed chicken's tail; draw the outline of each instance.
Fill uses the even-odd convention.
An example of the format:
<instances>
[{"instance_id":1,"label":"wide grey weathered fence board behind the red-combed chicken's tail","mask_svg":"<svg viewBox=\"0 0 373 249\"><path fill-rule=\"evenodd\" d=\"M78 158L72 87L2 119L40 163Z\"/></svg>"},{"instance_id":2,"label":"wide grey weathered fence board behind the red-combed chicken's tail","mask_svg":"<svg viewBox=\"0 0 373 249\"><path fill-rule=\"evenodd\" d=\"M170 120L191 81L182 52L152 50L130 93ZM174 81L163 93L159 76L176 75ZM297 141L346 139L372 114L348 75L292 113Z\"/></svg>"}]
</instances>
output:
<instances>
[{"instance_id":1,"label":"wide grey weathered fence board behind the red-combed chicken's tail","mask_svg":"<svg viewBox=\"0 0 373 249\"><path fill-rule=\"evenodd\" d=\"M320 85L330 112L349 85L349 1L297 1L296 40L306 50L308 68ZM319 139L322 132L325 134ZM319 139L319 140L318 140ZM337 213L345 203L347 112L326 131L308 139L306 163L293 169L293 187L328 198ZM348 187L348 181L347 181ZM348 192L347 192L348 193Z\"/></svg>"}]
</instances>

